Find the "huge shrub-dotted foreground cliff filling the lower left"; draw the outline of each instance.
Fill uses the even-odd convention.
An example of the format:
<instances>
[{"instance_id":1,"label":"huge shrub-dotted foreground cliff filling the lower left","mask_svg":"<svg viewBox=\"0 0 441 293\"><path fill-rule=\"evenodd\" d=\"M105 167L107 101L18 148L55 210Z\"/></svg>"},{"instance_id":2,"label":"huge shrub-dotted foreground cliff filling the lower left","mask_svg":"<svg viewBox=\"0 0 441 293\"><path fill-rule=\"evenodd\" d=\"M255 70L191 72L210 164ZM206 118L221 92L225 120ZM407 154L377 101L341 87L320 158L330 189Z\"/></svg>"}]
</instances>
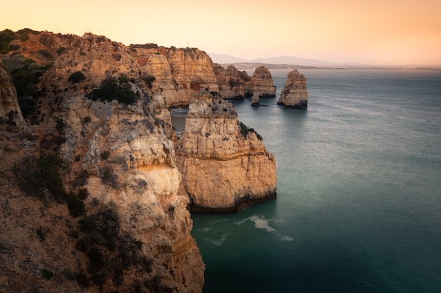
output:
<instances>
[{"instance_id":1,"label":"huge shrub-dotted foreground cliff filling the lower left","mask_svg":"<svg viewBox=\"0 0 441 293\"><path fill-rule=\"evenodd\" d=\"M143 74L127 47L85 34L42 77L42 123L1 150L15 156L0 164L2 185L3 178L12 182L0 190L0 247L8 251L0 271L11 292L201 292L204 263L190 235L188 197L178 192L169 112L151 98ZM135 94L134 103L85 97L109 76ZM18 192L11 166L26 167L25 154L40 151L43 159L31 162L46 162L46 152L61 155L66 201L86 194L86 215L71 216L63 200L44 204ZM38 240L44 233L50 236ZM52 277L42 278L42 270L56 282L46 282Z\"/></svg>"}]
</instances>

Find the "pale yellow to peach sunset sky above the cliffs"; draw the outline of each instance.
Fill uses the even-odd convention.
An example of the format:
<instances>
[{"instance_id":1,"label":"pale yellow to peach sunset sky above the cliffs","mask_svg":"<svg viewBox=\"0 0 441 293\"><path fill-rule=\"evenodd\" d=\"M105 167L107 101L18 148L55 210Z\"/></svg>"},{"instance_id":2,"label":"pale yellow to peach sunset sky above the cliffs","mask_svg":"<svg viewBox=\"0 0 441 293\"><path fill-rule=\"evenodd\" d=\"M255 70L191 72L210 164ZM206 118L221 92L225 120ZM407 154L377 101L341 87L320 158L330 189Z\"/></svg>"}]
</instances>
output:
<instances>
[{"instance_id":1,"label":"pale yellow to peach sunset sky above the cliffs","mask_svg":"<svg viewBox=\"0 0 441 293\"><path fill-rule=\"evenodd\" d=\"M441 65L440 0L14 0L0 31L105 35L239 58Z\"/></svg>"}]
</instances>

